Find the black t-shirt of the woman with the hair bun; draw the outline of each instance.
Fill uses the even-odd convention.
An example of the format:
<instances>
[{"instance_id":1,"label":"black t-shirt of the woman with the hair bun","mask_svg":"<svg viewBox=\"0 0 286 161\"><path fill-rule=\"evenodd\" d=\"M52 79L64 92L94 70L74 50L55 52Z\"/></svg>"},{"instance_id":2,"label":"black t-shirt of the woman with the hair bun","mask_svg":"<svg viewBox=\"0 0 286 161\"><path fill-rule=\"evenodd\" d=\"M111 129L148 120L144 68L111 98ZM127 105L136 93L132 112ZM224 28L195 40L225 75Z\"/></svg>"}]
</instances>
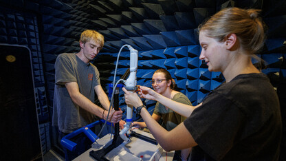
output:
<instances>
[{"instance_id":1,"label":"black t-shirt of the woman with the hair bun","mask_svg":"<svg viewBox=\"0 0 286 161\"><path fill-rule=\"evenodd\" d=\"M203 100L184 125L197 142L195 160L278 160L278 96L265 74L241 74Z\"/></svg>"}]
</instances>

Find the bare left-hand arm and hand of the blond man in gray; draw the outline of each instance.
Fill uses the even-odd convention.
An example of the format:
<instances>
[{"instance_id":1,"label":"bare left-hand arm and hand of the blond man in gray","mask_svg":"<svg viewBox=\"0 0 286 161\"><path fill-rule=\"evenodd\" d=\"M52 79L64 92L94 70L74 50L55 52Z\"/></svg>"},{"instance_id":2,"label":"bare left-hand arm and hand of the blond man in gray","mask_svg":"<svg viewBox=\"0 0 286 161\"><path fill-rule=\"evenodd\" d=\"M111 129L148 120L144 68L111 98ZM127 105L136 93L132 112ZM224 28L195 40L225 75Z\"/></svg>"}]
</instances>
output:
<instances>
[{"instance_id":1,"label":"bare left-hand arm and hand of the blond man in gray","mask_svg":"<svg viewBox=\"0 0 286 161\"><path fill-rule=\"evenodd\" d=\"M72 101L76 103L76 105L79 105L81 108L89 111L91 114L94 114L99 118L102 118L103 115L104 116L103 119L106 119L107 111L98 107L98 105L92 103L91 100L83 96L83 94L80 94L78 89L78 83L76 82L65 83L65 87L67 87L67 92L69 92L69 96L72 98ZM108 120L110 122L116 123L119 122L121 118L122 118L122 111L111 111Z\"/></svg>"}]
</instances>

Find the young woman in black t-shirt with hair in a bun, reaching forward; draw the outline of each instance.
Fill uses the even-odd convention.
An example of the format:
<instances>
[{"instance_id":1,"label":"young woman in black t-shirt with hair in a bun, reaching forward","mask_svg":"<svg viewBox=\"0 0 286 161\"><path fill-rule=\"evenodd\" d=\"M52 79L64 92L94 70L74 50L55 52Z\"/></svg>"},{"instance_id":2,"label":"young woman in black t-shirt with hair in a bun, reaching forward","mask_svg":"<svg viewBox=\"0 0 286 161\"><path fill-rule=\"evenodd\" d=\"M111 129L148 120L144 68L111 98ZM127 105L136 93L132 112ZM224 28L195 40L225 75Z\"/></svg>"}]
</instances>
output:
<instances>
[{"instance_id":1,"label":"young woman in black t-shirt with hair in a bun, reaching forward","mask_svg":"<svg viewBox=\"0 0 286 161\"><path fill-rule=\"evenodd\" d=\"M143 108L137 108L155 139L166 150L192 147L191 160L278 160L282 137L278 96L267 76L252 64L263 46L259 10L225 8L199 26L199 58L209 71L222 72L225 83L201 105L191 107L140 87L142 98L157 100L190 116L166 131ZM125 102L141 107L137 94Z\"/></svg>"}]
</instances>

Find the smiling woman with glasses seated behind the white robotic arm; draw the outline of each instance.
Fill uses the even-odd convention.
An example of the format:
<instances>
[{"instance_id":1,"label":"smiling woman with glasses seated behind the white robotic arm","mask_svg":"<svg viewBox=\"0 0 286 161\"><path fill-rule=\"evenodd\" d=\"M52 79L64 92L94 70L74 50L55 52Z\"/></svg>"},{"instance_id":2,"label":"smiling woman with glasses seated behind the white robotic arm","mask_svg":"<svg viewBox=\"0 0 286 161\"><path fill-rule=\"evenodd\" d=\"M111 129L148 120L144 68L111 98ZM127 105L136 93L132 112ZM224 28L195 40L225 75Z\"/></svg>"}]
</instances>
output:
<instances>
[{"instance_id":1,"label":"smiling woman with glasses seated behind the white robotic arm","mask_svg":"<svg viewBox=\"0 0 286 161\"><path fill-rule=\"evenodd\" d=\"M170 98L171 100L175 100L179 103L184 103L186 105L192 105L190 100L181 92L177 92L174 90L175 88L175 80L172 78L170 73L166 69L157 69L150 81L153 89L158 94L162 94L166 98ZM159 122L162 119L162 127L166 130L170 131L177 127L181 122L186 120L187 116L181 116L177 114L172 109L162 105L157 102L155 105L155 109L152 114L152 118ZM120 122L120 125L124 125L124 122ZM145 122L133 122L133 127L143 128L146 127ZM188 155L190 154L190 148L181 150L181 160L186 160ZM174 159L179 156L179 151L176 151Z\"/></svg>"}]
</instances>

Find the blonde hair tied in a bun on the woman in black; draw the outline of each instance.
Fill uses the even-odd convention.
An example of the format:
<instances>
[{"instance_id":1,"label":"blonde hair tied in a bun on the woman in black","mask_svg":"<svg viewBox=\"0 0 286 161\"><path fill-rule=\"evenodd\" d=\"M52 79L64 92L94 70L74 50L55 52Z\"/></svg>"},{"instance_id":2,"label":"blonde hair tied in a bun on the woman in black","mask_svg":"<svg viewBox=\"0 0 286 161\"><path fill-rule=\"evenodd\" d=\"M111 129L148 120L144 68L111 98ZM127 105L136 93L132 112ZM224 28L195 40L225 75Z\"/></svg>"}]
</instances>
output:
<instances>
[{"instance_id":1,"label":"blonde hair tied in a bun on the woman in black","mask_svg":"<svg viewBox=\"0 0 286 161\"><path fill-rule=\"evenodd\" d=\"M199 32L222 42L228 34L236 34L243 51L254 58L265 41L263 21L256 9L225 8L199 25Z\"/></svg>"}]
</instances>

